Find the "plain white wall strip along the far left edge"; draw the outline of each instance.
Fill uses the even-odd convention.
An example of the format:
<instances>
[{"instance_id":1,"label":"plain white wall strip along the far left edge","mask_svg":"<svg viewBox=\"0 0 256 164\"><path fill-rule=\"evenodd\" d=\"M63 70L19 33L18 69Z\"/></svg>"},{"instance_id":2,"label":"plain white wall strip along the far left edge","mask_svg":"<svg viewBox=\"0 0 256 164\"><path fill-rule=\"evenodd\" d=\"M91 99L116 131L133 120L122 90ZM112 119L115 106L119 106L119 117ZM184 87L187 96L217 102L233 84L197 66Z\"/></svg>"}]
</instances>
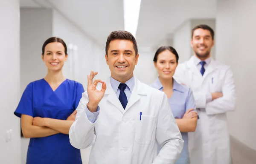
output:
<instances>
[{"instance_id":1,"label":"plain white wall strip along the far left edge","mask_svg":"<svg viewBox=\"0 0 256 164\"><path fill-rule=\"evenodd\" d=\"M0 2L0 163L20 164L20 119L13 112L20 99L19 0ZM12 129L6 142L6 131Z\"/></svg>"}]
</instances>

